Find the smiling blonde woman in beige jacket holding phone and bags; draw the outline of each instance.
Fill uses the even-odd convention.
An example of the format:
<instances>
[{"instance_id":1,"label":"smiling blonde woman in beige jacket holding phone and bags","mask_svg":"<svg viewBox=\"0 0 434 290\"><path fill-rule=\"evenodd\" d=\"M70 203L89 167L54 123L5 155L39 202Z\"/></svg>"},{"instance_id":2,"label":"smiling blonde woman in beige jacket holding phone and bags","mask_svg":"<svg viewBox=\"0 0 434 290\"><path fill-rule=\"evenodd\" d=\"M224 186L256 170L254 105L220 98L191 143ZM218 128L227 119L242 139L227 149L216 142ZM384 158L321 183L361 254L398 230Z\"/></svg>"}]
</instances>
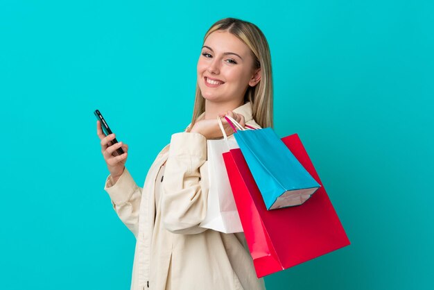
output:
<instances>
[{"instance_id":1,"label":"smiling blonde woman in beige jacket holding phone and bags","mask_svg":"<svg viewBox=\"0 0 434 290\"><path fill-rule=\"evenodd\" d=\"M272 126L270 51L249 22L222 19L207 31L198 60L191 124L175 133L150 167L144 187L125 168L128 145L112 145L97 121L110 175L105 190L137 238L132 290L265 289L254 271L244 234L200 228L207 211L207 139L223 136L218 117L242 126ZM227 135L233 133L222 119ZM233 137L232 135L230 137ZM125 153L112 153L122 147Z\"/></svg>"}]
</instances>

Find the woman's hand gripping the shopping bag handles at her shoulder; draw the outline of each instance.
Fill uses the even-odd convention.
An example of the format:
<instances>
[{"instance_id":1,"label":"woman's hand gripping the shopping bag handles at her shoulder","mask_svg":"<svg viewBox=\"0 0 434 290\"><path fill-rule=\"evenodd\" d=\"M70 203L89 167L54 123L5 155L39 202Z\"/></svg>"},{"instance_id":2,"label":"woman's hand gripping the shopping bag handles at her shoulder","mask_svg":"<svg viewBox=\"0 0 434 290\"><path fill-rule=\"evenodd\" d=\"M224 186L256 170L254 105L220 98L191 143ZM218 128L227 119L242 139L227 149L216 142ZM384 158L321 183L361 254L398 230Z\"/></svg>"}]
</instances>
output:
<instances>
[{"instance_id":1,"label":"woman's hand gripping the shopping bag handles at her shoulder","mask_svg":"<svg viewBox=\"0 0 434 290\"><path fill-rule=\"evenodd\" d=\"M242 114L236 114L232 111L227 111L224 113L218 114L218 117L223 118L225 116L232 117L235 121L240 123L241 126L245 126L245 119ZM226 119L222 119L223 128L225 129L226 135L232 135L234 133L234 130L232 130L232 127L227 123ZM207 119L207 120L200 120L197 121L193 128L190 130L191 133L200 133L205 136L207 139L216 139L223 137L223 133L220 129L220 126L218 126L217 119Z\"/></svg>"}]
</instances>

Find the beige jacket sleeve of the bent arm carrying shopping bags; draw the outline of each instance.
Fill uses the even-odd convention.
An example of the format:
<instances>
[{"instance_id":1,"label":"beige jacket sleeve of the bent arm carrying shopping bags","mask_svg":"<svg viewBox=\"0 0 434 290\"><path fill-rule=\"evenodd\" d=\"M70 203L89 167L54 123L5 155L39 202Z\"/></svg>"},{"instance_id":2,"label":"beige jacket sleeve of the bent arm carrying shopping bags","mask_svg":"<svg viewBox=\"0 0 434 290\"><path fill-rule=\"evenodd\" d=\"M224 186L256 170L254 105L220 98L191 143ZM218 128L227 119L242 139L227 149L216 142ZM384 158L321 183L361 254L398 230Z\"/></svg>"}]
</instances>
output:
<instances>
[{"instance_id":1,"label":"beige jacket sleeve of the bent arm carrying shopping bags","mask_svg":"<svg viewBox=\"0 0 434 290\"><path fill-rule=\"evenodd\" d=\"M207 213L207 139L199 133L175 133L164 170L161 214L166 230L198 234Z\"/></svg>"}]
</instances>

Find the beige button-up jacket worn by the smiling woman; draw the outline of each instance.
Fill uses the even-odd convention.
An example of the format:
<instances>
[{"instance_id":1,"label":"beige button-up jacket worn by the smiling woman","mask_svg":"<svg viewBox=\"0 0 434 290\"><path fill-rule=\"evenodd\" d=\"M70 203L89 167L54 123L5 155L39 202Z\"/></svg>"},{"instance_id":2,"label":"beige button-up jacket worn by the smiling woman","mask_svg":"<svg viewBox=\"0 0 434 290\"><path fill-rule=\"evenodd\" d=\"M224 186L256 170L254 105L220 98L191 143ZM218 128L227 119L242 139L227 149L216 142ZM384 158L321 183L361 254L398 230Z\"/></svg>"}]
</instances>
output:
<instances>
[{"instance_id":1,"label":"beige button-up jacket worn by the smiling woman","mask_svg":"<svg viewBox=\"0 0 434 290\"><path fill-rule=\"evenodd\" d=\"M257 125L250 103L234 112ZM164 162L164 176L157 180ZM131 290L265 289L243 233L198 227L207 211L207 176L207 139L183 132L173 134L157 155L143 188L126 168L114 185L107 177L104 189L113 208L137 239Z\"/></svg>"}]
</instances>

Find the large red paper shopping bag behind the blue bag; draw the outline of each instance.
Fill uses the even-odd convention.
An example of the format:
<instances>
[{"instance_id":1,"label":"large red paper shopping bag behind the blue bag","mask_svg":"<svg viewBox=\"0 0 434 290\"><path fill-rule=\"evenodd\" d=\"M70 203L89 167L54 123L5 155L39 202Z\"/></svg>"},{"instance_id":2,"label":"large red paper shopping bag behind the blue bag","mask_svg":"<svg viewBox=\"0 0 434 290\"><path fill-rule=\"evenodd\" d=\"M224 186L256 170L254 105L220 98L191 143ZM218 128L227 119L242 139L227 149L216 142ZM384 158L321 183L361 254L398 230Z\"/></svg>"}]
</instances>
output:
<instances>
[{"instance_id":1,"label":"large red paper shopping bag behind the blue bag","mask_svg":"<svg viewBox=\"0 0 434 290\"><path fill-rule=\"evenodd\" d=\"M281 140L321 185L308 201L295 207L267 210L241 150L223 153L258 278L350 244L300 138L294 134Z\"/></svg>"}]
</instances>

